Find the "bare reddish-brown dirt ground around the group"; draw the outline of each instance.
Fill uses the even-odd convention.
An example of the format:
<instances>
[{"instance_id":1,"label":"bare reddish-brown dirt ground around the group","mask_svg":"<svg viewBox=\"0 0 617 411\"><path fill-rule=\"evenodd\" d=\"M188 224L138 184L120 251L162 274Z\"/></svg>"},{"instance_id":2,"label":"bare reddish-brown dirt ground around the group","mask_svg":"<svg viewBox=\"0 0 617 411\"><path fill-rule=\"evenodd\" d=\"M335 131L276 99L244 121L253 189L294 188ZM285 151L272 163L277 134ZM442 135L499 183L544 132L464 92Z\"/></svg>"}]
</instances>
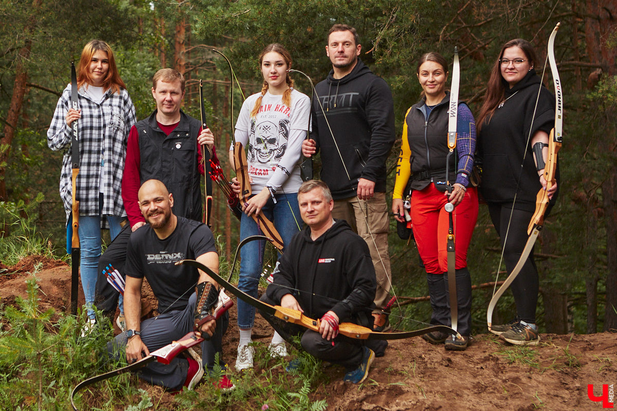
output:
<instances>
[{"instance_id":1,"label":"bare reddish-brown dirt ground around the group","mask_svg":"<svg viewBox=\"0 0 617 411\"><path fill-rule=\"evenodd\" d=\"M0 266L0 301L12 304L15 295L25 296L27 272L35 271L35 266L41 309L68 311L70 267L41 258L14 267ZM270 335L271 328L258 315L254 340L267 343ZM363 385L343 383L342 368L325 367L332 382L321 386L313 398L325 398L328 410L602 409L601 402L590 401L587 385L594 385L595 396L600 396L603 384L617 383L617 335L542 334L541 338L536 348L520 349L490 334L476 335L475 343L463 352L445 351L419 337L390 341L386 356L375 359ZM237 346L238 332L231 326L223 347L229 365L233 365ZM160 388L139 385L152 391L153 397L162 395ZM159 406L174 408L171 396L164 394L161 399Z\"/></svg>"}]
</instances>

